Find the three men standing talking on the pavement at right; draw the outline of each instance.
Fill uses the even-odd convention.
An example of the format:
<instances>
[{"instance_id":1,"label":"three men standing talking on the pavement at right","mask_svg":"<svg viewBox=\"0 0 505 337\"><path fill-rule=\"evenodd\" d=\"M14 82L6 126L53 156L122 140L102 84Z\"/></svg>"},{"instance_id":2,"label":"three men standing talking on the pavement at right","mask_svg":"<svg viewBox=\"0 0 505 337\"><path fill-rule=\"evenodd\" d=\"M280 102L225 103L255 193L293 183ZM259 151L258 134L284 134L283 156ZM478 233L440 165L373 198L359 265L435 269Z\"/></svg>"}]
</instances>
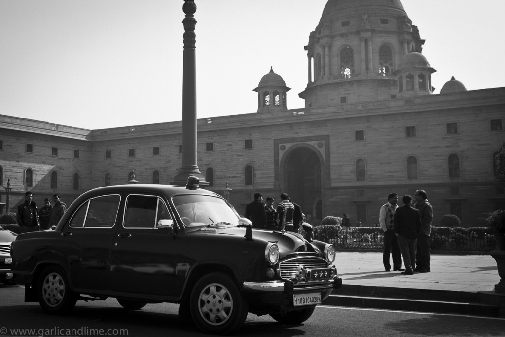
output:
<instances>
[{"instance_id":1,"label":"three men standing talking on the pavement at right","mask_svg":"<svg viewBox=\"0 0 505 337\"><path fill-rule=\"evenodd\" d=\"M416 204L412 206L412 197L403 196L403 206L399 207L398 195L391 193L388 202L380 208L379 223L384 231L383 263L386 271L391 270L391 254L393 271L401 271L403 275L413 275L414 271L430 272L429 238L433 209L424 190L417 190L414 198ZM405 269L401 268L401 257Z\"/></svg>"}]
</instances>

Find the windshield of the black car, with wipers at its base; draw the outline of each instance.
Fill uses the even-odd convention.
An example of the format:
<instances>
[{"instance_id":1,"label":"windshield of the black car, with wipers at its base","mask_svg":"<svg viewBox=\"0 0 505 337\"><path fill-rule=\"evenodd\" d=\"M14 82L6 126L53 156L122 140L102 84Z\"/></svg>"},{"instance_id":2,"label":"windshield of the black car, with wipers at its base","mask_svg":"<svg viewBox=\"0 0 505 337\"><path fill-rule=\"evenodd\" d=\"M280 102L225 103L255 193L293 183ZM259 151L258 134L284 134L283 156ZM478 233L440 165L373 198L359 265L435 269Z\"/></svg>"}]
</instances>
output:
<instances>
[{"instance_id":1,"label":"windshield of the black car, with wipers at its base","mask_svg":"<svg viewBox=\"0 0 505 337\"><path fill-rule=\"evenodd\" d=\"M213 196L175 196L172 202L186 226L215 226L229 224L238 226L238 214L223 199Z\"/></svg>"}]
</instances>

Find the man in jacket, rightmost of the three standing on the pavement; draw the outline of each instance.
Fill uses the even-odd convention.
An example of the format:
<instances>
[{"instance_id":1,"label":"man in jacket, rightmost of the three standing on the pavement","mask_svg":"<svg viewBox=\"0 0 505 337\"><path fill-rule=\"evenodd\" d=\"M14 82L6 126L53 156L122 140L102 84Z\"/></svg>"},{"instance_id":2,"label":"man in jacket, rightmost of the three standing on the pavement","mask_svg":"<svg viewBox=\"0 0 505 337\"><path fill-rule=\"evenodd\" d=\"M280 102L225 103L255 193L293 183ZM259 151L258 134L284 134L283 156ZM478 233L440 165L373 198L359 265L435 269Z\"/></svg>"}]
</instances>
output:
<instances>
[{"instance_id":1,"label":"man in jacket, rightmost of the three standing on the pavement","mask_svg":"<svg viewBox=\"0 0 505 337\"><path fill-rule=\"evenodd\" d=\"M433 219L433 209L428 203L428 196L422 189L416 191L414 196L416 205L414 206L419 210L421 216L421 231L417 238L417 265L415 271L420 273L430 272L430 233L431 233L431 220Z\"/></svg>"}]
</instances>

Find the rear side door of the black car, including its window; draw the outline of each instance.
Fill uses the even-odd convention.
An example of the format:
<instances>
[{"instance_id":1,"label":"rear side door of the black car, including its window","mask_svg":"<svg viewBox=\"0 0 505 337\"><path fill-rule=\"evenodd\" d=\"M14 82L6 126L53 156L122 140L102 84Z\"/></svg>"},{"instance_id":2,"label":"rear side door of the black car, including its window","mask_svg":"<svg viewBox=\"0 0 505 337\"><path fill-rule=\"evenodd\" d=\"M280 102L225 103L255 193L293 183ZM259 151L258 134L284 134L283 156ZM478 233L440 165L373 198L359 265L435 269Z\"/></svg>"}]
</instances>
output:
<instances>
[{"instance_id":1,"label":"rear side door of the black car, including its window","mask_svg":"<svg viewBox=\"0 0 505 337\"><path fill-rule=\"evenodd\" d=\"M110 254L121 196L98 196L83 202L62 229L56 247L67 259L77 290L109 288Z\"/></svg>"}]
</instances>

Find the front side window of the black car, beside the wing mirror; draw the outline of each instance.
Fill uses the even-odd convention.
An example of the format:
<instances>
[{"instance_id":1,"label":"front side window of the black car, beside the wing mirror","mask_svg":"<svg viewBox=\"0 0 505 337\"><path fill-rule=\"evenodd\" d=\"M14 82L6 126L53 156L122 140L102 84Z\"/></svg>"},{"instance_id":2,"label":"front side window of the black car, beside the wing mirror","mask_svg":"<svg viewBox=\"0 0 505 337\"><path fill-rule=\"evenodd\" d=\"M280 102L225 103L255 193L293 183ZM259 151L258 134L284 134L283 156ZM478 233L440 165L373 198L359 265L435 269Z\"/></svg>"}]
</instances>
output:
<instances>
[{"instance_id":1,"label":"front side window of the black car, beside the wing mirror","mask_svg":"<svg viewBox=\"0 0 505 337\"><path fill-rule=\"evenodd\" d=\"M159 219L171 219L167 206L161 198L128 196L123 223L125 228L156 228Z\"/></svg>"}]
</instances>

